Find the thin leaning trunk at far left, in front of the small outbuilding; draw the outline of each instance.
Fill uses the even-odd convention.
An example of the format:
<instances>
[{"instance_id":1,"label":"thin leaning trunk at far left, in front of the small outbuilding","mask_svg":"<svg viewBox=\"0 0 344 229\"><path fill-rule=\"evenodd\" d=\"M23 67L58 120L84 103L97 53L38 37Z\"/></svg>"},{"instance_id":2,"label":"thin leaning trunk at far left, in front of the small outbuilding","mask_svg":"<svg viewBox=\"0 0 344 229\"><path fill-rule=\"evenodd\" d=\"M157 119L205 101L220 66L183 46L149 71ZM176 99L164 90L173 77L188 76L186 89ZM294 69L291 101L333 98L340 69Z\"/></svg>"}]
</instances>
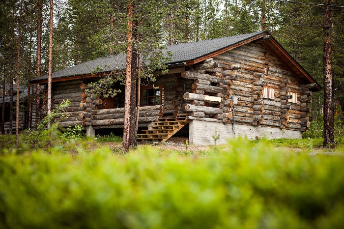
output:
<instances>
[{"instance_id":1,"label":"thin leaning trunk at far left, in front of the small outbuilding","mask_svg":"<svg viewBox=\"0 0 344 229\"><path fill-rule=\"evenodd\" d=\"M18 26L18 45L17 45L17 101L16 101L16 146L19 146L18 135L19 135L19 79L20 79L20 39L21 39L21 27L22 27L22 9L23 0L20 1L19 10L19 26Z\"/></svg>"}]
</instances>

